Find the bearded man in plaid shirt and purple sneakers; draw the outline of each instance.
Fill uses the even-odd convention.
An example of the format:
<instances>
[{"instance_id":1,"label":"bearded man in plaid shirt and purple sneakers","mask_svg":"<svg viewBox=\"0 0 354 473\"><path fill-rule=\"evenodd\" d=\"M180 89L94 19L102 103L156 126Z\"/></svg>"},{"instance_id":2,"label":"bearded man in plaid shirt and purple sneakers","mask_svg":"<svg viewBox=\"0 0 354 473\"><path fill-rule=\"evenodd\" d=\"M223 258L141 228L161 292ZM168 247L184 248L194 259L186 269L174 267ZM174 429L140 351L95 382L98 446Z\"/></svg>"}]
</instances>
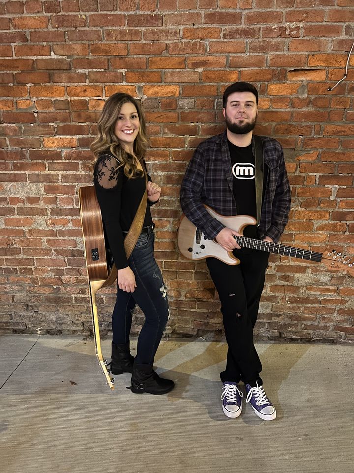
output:
<instances>
[{"instance_id":1,"label":"bearded man in plaid shirt and purple sneakers","mask_svg":"<svg viewBox=\"0 0 354 473\"><path fill-rule=\"evenodd\" d=\"M180 198L187 218L207 239L216 240L240 260L239 265L232 266L207 258L219 293L228 344L226 368L220 373L223 411L227 417L240 415L243 393L238 383L243 381L246 402L258 417L273 420L276 410L264 391L262 365L253 343L269 253L240 248L234 239L240 234L213 218L203 205L223 216L250 215L257 219L257 226L246 227L245 236L277 242L283 233L290 209L283 151L275 139L253 135L257 105L257 89L247 82L236 82L225 90L227 129L197 147Z\"/></svg>"}]
</instances>

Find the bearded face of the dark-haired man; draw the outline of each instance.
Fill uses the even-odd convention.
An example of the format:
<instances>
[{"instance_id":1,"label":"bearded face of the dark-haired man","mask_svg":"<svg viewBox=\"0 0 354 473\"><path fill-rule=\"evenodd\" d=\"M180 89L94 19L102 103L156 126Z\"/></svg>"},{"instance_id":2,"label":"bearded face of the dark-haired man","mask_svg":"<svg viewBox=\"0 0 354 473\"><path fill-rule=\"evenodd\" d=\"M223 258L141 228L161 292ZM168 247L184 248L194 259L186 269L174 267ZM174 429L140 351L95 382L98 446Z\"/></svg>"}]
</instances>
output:
<instances>
[{"instance_id":1,"label":"bearded face of the dark-haired man","mask_svg":"<svg viewBox=\"0 0 354 473\"><path fill-rule=\"evenodd\" d=\"M228 97L223 114L230 132L249 133L256 125L256 96L252 92L233 92Z\"/></svg>"}]
</instances>

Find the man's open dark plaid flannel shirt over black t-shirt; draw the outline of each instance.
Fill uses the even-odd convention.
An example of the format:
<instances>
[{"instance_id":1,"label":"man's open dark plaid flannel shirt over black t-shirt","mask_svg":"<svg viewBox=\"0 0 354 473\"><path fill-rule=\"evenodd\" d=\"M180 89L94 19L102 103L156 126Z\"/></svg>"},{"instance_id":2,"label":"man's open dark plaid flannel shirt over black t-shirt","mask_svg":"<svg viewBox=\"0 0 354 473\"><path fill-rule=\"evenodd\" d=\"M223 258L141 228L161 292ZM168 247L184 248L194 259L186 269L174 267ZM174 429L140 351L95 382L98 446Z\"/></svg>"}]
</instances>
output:
<instances>
[{"instance_id":1,"label":"man's open dark plaid flannel shirt over black t-shirt","mask_svg":"<svg viewBox=\"0 0 354 473\"><path fill-rule=\"evenodd\" d=\"M258 233L261 239L270 236L276 242L288 222L290 187L280 143L266 136L261 139L269 170ZM224 225L203 204L224 216L237 215L226 131L203 141L195 150L182 182L180 202L187 218L210 240Z\"/></svg>"}]
</instances>

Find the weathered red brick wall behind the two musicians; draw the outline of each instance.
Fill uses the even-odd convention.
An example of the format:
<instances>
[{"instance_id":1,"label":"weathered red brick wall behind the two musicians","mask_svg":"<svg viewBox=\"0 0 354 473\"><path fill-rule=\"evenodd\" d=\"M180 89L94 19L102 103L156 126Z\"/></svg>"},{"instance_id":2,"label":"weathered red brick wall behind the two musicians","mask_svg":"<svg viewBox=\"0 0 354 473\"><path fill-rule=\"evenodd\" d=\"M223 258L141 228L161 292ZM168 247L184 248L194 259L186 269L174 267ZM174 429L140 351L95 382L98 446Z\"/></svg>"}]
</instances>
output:
<instances>
[{"instance_id":1,"label":"weathered red brick wall behind the two musicians","mask_svg":"<svg viewBox=\"0 0 354 473\"><path fill-rule=\"evenodd\" d=\"M141 97L153 209L168 286L167 334L218 338L205 262L177 251L179 186L195 146L223 129L236 80L260 91L259 134L284 146L292 210L282 241L354 254L353 0L1 1L2 332L89 333L77 192L105 98ZM261 339L353 339L353 277L271 256ZM98 298L110 326L114 295ZM137 313L135 329L141 314Z\"/></svg>"}]
</instances>

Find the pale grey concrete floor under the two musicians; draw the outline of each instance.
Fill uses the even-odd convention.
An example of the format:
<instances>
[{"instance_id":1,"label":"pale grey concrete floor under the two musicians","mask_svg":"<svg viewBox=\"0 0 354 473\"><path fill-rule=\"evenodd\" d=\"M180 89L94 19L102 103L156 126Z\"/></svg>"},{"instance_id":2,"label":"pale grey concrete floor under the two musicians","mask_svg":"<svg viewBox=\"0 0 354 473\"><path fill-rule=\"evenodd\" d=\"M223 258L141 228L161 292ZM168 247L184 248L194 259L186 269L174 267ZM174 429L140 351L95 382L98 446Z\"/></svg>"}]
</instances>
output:
<instances>
[{"instance_id":1,"label":"pale grey concrete floor under the two musicians","mask_svg":"<svg viewBox=\"0 0 354 473\"><path fill-rule=\"evenodd\" d=\"M91 339L0 336L0 471L353 473L353 347L257 350L272 422L245 403L239 418L224 416L224 343L161 343L155 365L176 388L138 396L129 374L105 385Z\"/></svg>"}]
</instances>

